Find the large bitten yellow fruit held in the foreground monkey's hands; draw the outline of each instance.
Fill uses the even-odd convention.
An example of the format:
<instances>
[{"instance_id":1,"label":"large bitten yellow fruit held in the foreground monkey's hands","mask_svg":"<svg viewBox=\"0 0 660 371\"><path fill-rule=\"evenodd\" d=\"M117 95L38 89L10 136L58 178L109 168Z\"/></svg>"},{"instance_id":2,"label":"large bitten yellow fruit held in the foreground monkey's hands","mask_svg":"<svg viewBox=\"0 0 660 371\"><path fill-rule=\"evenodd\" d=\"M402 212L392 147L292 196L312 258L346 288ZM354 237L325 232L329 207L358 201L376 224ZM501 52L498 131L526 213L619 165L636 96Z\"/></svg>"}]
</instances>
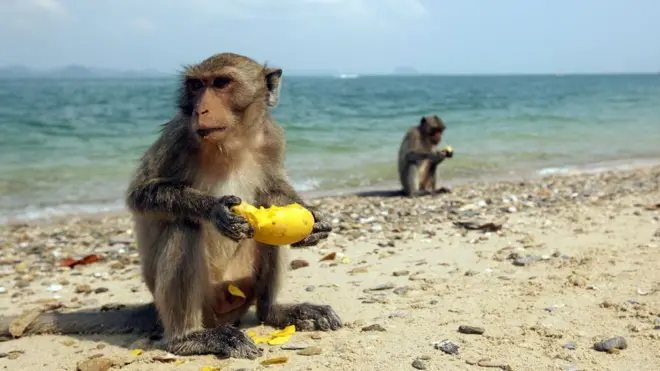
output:
<instances>
[{"instance_id":1,"label":"large bitten yellow fruit held in the foreground monkey's hands","mask_svg":"<svg viewBox=\"0 0 660 371\"><path fill-rule=\"evenodd\" d=\"M256 208L242 202L232 211L248 220L254 240L268 245L290 245L312 233L314 215L299 204Z\"/></svg>"}]
</instances>

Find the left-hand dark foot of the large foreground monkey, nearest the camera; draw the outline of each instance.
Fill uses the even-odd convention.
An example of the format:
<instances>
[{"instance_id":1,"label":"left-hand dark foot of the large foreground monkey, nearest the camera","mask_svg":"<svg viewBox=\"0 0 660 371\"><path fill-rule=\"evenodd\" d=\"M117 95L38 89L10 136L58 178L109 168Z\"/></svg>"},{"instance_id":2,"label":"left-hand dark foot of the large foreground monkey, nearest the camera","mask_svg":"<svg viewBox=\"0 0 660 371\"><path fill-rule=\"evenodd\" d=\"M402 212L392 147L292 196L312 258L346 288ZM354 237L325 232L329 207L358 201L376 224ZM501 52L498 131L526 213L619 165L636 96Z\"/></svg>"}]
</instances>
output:
<instances>
[{"instance_id":1,"label":"left-hand dark foot of the large foreground monkey, nearest the camera","mask_svg":"<svg viewBox=\"0 0 660 371\"><path fill-rule=\"evenodd\" d=\"M218 358L255 359L263 354L252 339L232 325L193 332L172 341L167 350L179 356L213 354Z\"/></svg>"}]
</instances>

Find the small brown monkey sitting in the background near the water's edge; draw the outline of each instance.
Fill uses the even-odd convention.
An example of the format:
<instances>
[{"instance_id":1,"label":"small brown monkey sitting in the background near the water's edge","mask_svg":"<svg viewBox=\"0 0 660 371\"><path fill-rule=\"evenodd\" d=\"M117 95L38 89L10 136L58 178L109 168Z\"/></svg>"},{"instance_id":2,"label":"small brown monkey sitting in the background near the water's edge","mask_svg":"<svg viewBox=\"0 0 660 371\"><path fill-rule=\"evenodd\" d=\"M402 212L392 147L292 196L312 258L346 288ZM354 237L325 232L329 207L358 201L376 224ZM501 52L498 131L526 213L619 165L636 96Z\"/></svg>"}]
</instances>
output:
<instances>
[{"instance_id":1,"label":"small brown monkey sitting in the background near the water's edge","mask_svg":"<svg viewBox=\"0 0 660 371\"><path fill-rule=\"evenodd\" d=\"M409 197L433 194L437 190L436 168L453 153L438 150L446 126L436 116L424 116L419 125L408 129L399 147L399 180ZM445 190L446 191L446 190Z\"/></svg>"}]
</instances>

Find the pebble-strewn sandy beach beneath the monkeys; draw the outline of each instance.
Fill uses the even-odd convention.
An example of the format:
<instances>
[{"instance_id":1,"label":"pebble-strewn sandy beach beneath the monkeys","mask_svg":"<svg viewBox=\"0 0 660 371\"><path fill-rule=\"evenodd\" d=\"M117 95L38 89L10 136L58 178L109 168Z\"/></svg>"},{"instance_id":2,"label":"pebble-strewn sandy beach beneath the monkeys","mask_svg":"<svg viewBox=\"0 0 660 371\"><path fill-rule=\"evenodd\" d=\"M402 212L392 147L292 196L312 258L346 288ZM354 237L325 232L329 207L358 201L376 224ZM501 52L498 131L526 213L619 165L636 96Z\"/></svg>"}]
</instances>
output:
<instances>
[{"instance_id":1,"label":"pebble-strewn sandy beach beneath the monkeys","mask_svg":"<svg viewBox=\"0 0 660 371\"><path fill-rule=\"evenodd\" d=\"M334 233L318 247L290 249L296 262L279 300L332 305L341 330L262 344L257 360L174 357L139 335L30 336L0 342L0 368L657 369L659 180L660 167L649 167L470 184L414 200L315 199ZM4 315L151 300L126 214L6 225L0 246ZM100 260L60 266L89 254ZM244 322L245 331L273 330ZM625 349L594 349L617 336ZM261 364L278 356L288 361Z\"/></svg>"}]
</instances>

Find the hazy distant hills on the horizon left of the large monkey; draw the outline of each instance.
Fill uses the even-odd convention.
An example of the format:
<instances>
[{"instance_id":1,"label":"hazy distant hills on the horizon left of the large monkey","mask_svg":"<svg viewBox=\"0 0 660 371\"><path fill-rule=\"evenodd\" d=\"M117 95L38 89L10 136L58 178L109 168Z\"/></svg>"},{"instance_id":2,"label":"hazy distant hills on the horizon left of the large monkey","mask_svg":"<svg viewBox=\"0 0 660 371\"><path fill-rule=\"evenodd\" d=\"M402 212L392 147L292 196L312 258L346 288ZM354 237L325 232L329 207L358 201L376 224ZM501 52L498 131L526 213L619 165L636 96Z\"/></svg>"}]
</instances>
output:
<instances>
[{"instance_id":1,"label":"hazy distant hills on the horizon left of the large monkey","mask_svg":"<svg viewBox=\"0 0 660 371\"><path fill-rule=\"evenodd\" d=\"M21 65L0 67L0 79L25 78L66 78L66 79L94 79L94 78L127 78L127 77L167 77L166 74L154 69L146 70L114 70L104 68L90 68L81 65L68 65L52 69L32 69Z\"/></svg>"}]
</instances>

